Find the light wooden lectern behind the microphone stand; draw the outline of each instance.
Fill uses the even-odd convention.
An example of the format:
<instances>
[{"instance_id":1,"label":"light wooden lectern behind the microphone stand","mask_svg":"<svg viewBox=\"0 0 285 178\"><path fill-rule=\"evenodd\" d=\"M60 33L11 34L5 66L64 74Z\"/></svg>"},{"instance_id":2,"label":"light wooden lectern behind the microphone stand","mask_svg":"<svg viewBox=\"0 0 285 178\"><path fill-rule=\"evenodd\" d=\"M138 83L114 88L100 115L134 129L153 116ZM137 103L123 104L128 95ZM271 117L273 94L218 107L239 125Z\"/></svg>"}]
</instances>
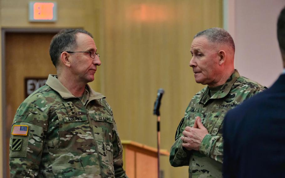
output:
<instances>
[{"instance_id":1,"label":"light wooden lectern behind the microphone stand","mask_svg":"<svg viewBox=\"0 0 285 178\"><path fill-rule=\"evenodd\" d=\"M157 149L131 140L122 140L123 168L129 178L157 178ZM169 156L169 152L160 149L161 155Z\"/></svg>"}]
</instances>

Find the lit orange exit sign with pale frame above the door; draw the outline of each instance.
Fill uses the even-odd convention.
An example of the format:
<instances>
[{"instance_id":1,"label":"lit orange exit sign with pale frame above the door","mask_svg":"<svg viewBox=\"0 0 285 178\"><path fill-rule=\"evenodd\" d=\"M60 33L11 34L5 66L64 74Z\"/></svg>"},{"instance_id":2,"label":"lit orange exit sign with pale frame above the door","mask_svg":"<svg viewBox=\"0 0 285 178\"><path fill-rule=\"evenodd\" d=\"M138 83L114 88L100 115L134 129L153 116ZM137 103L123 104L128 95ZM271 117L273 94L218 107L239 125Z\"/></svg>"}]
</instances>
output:
<instances>
[{"instance_id":1,"label":"lit orange exit sign with pale frame above the door","mask_svg":"<svg viewBox=\"0 0 285 178\"><path fill-rule=\"evenodd\" d=\"M57 20L56 2L29 2L30 22L55 22Z\"/></svg>"}]
</instances>

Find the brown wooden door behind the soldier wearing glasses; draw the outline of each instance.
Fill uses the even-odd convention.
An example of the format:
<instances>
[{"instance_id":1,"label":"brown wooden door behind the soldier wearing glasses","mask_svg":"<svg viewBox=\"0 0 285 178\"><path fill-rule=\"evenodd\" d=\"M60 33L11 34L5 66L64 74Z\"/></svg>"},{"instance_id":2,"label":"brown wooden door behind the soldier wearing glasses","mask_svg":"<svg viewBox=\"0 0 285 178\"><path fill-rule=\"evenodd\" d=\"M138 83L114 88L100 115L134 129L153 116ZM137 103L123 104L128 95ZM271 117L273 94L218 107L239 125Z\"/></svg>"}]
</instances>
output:
<instances>
[{"instance_id":1,"label":"brown wooden door behind the soldier wearing glasses","mask_svg":"<svg viewBox=\"0 0 285 178\"><path fill-rule=\"evenodd\" d=\"M25 99L26 77L48 77L56 74L49 57L49 44L54 33L6 33L5 34L5 97L6 97L6 177L9 170L9 138L17 108Z\"/></svg>"}]
</instances>

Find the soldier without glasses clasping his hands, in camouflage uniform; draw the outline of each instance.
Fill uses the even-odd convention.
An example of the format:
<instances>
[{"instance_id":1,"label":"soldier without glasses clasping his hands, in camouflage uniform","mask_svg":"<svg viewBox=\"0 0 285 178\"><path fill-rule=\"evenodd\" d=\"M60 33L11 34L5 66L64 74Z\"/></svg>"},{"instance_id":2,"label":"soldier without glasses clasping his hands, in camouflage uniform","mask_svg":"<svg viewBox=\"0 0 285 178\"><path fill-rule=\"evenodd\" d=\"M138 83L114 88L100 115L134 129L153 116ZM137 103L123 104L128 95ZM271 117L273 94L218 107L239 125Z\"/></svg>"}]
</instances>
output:
<instances>
[{"instance_id":1,"label":"soldier without glasses clasping his hands, in camouflage uniform","mask_svg":"<svg viewBox=\"0 0 285 178\"><path fill-rule=\"evenodd\" d=\"M195 81L207 87L186 109L170 150L170 164L189 165L189 177L222 177L225 113L265 88L234 69L235 45L224 29L199 32L190 51Z\"/></svg>"}]
</instances>

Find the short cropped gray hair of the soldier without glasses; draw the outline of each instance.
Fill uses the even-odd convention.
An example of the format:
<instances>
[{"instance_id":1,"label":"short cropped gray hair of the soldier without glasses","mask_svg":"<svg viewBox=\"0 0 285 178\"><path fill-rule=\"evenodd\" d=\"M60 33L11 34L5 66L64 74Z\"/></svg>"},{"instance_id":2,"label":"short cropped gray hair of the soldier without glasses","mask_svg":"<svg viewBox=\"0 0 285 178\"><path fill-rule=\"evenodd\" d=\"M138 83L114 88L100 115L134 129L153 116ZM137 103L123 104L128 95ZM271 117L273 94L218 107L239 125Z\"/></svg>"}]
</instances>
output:
<instances>
[{"instance_id":1,"label":"short cropped gray hair of the soldier without glasses","mask_svg":"<svg viewBox=\"0 0 285 178\"><path fill-rule=\"evenodd\" d=\"M194 39L199 36L205 36L209 42L216 44L227 44L232 47L235 52L235 43L229 32L218 27L203 30L194 36Z\"/></svg>"}]
</instances>

